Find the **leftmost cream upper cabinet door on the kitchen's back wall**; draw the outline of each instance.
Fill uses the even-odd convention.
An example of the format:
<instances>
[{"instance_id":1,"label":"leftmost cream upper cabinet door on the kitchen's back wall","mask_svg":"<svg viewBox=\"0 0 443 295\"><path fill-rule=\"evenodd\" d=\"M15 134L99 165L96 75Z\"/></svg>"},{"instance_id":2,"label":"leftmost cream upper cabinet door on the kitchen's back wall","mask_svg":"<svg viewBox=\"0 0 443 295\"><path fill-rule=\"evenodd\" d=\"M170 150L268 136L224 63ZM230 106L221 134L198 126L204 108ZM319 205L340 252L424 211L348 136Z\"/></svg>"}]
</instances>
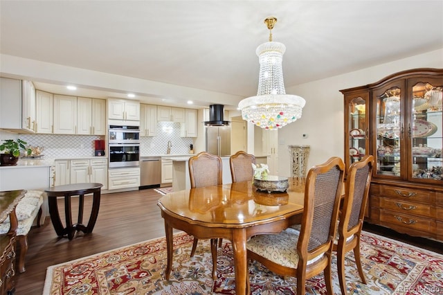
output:
<instances>
[{"instance_id":1,"label":"leftmost cream upper cabinet door on the kitchen's back wall","mask_svg":"<svg viewBox=\"0 0 443 295\"><path fill-rule=\"evenodd\" d=\"M37 133L53 133L53 100L53 93L35 91L35 130Z\"/></svg>"}]
</instances>

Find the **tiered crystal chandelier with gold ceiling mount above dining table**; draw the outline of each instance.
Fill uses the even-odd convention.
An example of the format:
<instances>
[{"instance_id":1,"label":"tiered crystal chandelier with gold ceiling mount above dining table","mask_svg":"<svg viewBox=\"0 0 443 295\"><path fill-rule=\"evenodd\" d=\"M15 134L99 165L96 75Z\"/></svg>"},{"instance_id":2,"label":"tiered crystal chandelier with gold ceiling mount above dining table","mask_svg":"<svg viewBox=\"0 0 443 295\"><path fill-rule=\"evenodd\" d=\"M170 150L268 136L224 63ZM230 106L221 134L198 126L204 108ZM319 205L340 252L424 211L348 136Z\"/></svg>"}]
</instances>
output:
<instances>
[{"instance_id":1,"label":"tiered crystal chandelier with gold ceiling mount above dining table","mask_svg":"<svg viewBox=\"0 0 443 295\"><path fill-rule=\"evenodd\" d=\"M272 29L277 19L268 17L269 42L257 47L260 62L257 96L245 98L238 104L242 118L264 129L278 129L302 116L305 99L284 91L282 60L286 46L272 42Z\"/></svg>"}]
</instances>

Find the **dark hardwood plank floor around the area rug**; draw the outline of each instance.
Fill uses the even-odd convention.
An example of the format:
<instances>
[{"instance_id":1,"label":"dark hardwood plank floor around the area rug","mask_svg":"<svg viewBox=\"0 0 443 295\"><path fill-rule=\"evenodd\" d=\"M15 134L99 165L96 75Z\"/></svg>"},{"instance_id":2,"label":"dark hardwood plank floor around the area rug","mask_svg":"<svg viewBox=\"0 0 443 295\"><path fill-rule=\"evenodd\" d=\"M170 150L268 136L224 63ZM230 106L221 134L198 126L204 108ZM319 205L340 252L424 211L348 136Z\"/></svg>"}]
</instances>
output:
<instances>
[{"instance_id":1,"label":"dark hardwood plank floor around the area rug","mask_svg":"<svg viewBox=\"0 0 443 295\"><path fill-rule=\"evenodd\" d=\"M46 217L44 225L31 229L28 234L26 271L16 274L15 294L42 294L46 268L51 265L164 236L163 219L156 205L160 197L161 195L153 189L102 195L93 233L77 233L71 241L58 238L50 218ZM84 223L89 218L91 199L85 198ZM77 220L77 201L74 198L72 203L73 222ZM59 200L59 208L63 208L62 199ZM60 217L64 221L62 211ZM371 224L365 224L363 229L443 253L442 243L412 238Z\"/></svg>"}]
</instances>

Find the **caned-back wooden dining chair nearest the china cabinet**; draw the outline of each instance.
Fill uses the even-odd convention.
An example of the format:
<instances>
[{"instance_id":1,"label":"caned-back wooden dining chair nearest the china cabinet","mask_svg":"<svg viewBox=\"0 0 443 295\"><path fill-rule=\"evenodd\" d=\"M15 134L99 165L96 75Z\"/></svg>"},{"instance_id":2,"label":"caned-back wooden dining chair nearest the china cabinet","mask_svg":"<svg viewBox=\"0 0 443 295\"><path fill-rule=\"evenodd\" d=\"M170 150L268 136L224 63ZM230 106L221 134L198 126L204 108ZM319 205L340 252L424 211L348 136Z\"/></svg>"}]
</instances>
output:
<instances>
[{"instance_id":1,"label":"caned-back wooden dining chair nearest the china cabinet","mask_svg":"<svg viewBox=\"0 0 443 295\"><path fill-rule=\"evenodd\" d=\"M366 204L368 203L369 188L372 176L374 157L366 155L358 162L352 163L347 170L345 183L345 198L341 214L338 217L338 233L333 250L337 252L338 280L341 294L346 292L345 254L353 250L355 263L363 284L366 283L365 274L361 267L360 235L365 218Z\"/></svg>"}]
</instances>

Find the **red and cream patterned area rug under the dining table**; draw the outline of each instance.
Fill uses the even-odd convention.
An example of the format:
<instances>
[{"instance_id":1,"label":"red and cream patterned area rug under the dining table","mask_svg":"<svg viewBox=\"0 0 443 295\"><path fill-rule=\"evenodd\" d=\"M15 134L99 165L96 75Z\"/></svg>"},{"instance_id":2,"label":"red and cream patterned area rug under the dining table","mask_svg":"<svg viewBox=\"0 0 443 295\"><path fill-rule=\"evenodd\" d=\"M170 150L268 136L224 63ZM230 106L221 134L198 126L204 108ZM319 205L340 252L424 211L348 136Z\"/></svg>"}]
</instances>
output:
<instances>
[{"instance_id":1,"label":"red and cream patterned area rug under the dining table","mask_svg":"<svg viewBox=\"0 0 443 295\"><path fill-rule=\"evenodd\" d=\"M192 237L174 235L171 279L165 280L165 238L141 242L62 265L48 267L44 294L235 294L231 244L224 240L217 259L217 280L211 278L208 240L200 240L190 258ZM443 294L443 256L364 232L361 238L363 285L348 253L348 294ZM333 265L334 293L340 294ZM295 294L296 279L276 276L262 265L249 266L251 294ZM307 294L326 294L323 275L311 278Z\"/></svg>"}]
</instances>

